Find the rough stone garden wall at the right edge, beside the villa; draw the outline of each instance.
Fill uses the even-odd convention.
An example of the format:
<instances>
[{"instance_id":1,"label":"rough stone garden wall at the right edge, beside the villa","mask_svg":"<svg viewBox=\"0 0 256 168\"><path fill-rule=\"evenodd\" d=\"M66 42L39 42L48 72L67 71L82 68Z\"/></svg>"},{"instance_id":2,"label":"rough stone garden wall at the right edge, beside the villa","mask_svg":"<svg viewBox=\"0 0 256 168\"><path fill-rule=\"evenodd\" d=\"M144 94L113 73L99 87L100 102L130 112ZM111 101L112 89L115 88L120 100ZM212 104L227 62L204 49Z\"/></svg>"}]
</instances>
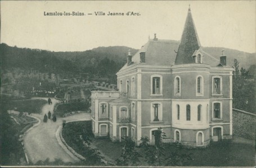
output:
<instances>
[{"instance_id":1,"label":"rough stone garden wall at the right edge, beside the villa","mask_svg":"<svg viewBox=\"0 0 256 168\"><path fill-rule=\"evenodd\" d=\"M233 109L233 135L255 139L256 114Z\"/></svg>"}]
</instances>

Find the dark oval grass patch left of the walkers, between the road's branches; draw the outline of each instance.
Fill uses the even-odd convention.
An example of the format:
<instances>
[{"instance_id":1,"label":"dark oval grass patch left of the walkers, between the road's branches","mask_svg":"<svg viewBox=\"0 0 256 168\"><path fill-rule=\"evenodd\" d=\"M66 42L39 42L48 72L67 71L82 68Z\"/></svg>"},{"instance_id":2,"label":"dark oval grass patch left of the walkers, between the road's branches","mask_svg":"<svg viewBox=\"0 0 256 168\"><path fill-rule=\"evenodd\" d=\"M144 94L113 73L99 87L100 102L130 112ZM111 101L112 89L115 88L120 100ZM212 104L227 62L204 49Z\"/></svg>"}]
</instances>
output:
<instances>
[{"instance_id":1,"label":"dark oval grass patch left of the walkers, between the road's branches","mask_svg":"<svg viewBox=\"0 0 256 168\"><path fill-rule=\"evenodd\" d=\"M17 111L28 112L28 113L41 113L42 106L47 104L46 100L37 99L37 100L19 100L12 101L10 108L17 108Z\"/></svg>"}]
</instances>

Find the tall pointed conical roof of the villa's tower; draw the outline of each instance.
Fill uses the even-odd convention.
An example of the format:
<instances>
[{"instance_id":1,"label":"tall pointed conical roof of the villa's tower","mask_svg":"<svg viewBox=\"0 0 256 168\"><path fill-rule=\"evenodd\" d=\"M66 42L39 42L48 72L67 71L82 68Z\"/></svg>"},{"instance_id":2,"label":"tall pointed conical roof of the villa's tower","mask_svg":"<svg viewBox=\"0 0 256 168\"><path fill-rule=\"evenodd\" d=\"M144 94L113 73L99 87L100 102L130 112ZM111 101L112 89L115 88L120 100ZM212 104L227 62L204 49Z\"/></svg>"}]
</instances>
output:
<instances>
[{"instance_id":1,"label":"tall pointed conical roof of the villa's tower","mask_svg":"<svg viewBox=\"0 0 256 168\"><path fill-rule=\"evenodd\" d=\"M175 59L175 64L194 63L192 54L200 48L200 41L197 36L196 27L191 15L190 8L188 9L185 27L182 33L181 44Z\"/></svg>"}]
</instances>

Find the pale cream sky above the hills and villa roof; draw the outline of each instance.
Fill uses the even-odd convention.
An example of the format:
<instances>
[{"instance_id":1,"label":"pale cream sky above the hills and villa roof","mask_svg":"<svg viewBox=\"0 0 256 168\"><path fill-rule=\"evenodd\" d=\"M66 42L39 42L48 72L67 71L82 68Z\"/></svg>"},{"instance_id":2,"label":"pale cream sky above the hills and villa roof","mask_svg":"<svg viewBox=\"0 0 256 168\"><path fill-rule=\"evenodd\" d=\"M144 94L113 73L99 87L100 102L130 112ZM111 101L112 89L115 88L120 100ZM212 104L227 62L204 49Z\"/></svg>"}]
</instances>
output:
<instances>
[{"instance_id":1,"label":"pale cream sky above the hills and villa roof","mask_svg":"<svg viewBox=\"0 0 256 168\"><path fill-rule=\"evenodd\" d=\"M0 1L1 43L55 52L180 40L188 6L202 46L256 52L256 1ZM70 12L71 16L44 16ZM72 16L73 12L84 16ZM105 16L96 16L104 12ZM109 12L124 16L107 16ZM127 16L127 12L139 16ZM88 15L92 13L92 15Z\"/></svg>"}]
</instances>

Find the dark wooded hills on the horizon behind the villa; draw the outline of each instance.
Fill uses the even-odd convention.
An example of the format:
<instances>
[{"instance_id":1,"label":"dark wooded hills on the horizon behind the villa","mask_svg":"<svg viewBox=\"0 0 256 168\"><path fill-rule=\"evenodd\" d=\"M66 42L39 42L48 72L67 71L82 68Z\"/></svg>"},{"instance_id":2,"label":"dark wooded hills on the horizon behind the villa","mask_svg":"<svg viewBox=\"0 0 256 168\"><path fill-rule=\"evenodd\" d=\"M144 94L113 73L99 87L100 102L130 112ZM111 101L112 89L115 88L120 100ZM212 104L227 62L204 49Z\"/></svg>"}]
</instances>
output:
<instances>
[{"instance_id":1,"label":"dark wooded hills on the horizon behind the villa","mask_svg":"<svg viewBox=\"0 0 256 168\"><path fill-rule=\"evenodd\" d=\"M219 59L222 50L227 55L227 63L233 64L233 59L240 62L240 67L248 69L256 63L255 53L239 50L203 47L203 50ZM53 71L55 73L89 73L96 76L115 78L115 73L125 64L128 50L135 54L138 50L127 46L98 47L84 52L50 52L47 50L17 48L0 44L1 70L10 68L35 69L39 72Z\"/></svg>"}]
</instances>

